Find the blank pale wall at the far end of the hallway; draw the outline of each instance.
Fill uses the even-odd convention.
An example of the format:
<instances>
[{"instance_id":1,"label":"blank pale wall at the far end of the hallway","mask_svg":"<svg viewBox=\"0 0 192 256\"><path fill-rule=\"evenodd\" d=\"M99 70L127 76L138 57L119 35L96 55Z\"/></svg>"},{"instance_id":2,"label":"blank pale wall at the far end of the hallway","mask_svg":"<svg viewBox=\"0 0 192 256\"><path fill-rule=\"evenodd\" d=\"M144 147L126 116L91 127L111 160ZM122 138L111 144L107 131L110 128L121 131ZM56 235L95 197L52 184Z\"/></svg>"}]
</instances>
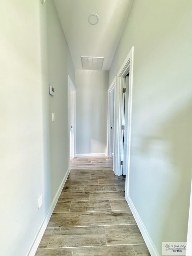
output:
<instances>
[{"instance_id":1,"label":"blank pale wall at the far end of the hallway","mask_svg":"<svg viewBox=\"0 0 192 256\"><path fill-rule=\"evenodd\" d=\"M77 154L106 154L108 77L108 71L75 71Z\"/></svg>"}]
</instances>

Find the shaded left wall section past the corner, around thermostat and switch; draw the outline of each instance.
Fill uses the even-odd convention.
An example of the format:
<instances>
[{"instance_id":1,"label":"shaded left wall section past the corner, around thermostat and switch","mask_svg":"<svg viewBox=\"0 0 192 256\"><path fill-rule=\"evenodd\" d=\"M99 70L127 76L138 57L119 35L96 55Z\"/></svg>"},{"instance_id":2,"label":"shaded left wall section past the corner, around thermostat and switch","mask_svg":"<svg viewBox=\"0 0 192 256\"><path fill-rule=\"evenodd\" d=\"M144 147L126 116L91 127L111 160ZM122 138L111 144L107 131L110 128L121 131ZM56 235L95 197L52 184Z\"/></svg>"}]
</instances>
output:
<instances>
[{"instance_id":1,"label":"shaded left wall section past the corner, around thermostat and switch","mask_svg":"<svg viewBox=\"0 0 192 256\"><path fill-rule=\"evenodd\" d=\"M53 1L47 3L48 73L54 97L49 96L52 197L70 167L68 75L75 85L75 70ZM52 122L55 113L55 122Z\"/></svg>"}]
</instances>

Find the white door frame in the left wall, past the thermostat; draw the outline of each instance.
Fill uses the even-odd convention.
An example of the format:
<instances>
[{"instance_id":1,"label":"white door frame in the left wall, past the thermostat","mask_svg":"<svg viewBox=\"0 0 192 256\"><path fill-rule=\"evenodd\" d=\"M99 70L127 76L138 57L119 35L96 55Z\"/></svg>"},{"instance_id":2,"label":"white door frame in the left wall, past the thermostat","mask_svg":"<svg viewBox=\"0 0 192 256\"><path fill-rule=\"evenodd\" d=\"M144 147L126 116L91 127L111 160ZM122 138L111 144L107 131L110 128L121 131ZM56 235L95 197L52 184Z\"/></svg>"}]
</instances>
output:
<instances>
[{"instance_id":1,"label":"white door frame in the left wall, past the thermostat","mask_svg":"<svg viewBox=\"0 0 192 256\"><path fill-rule=\"evenodd\" d=\"M68 75L70 158L76 157L76 88ZM71 126L73 128L71 128Z\"/></svg>"}]
</instances>

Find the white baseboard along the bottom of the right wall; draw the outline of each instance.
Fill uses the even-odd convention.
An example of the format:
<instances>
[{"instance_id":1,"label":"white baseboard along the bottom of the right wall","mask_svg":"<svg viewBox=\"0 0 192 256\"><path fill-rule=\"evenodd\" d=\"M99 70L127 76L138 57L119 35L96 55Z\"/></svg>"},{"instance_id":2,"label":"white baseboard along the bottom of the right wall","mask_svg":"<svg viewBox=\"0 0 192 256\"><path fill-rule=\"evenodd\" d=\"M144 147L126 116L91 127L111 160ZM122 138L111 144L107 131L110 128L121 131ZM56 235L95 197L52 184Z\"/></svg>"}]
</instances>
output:
<instances>
[{"instance_id":1,"label":"white baseboard along the bottom of the right wall","mask_svg":"<svg viewBox=\"0 0 192 256\"><path fill-rule=\"evenodd\" d=\"M137 225L140 229L140 232L143 236L144 241L146 242L147 248L148 248L151 256L160 256L160 254L158 253L151 237L149 236L149 233L147 232L137 210L135 209L135 206L134 206L133 202L131 201L131 198L129 196L127 196L127 197L125 196L125 199L128 202L128 205L131 209L132 214L134 215L135 221L137 222Z\"/></svg>"}]
</instances>

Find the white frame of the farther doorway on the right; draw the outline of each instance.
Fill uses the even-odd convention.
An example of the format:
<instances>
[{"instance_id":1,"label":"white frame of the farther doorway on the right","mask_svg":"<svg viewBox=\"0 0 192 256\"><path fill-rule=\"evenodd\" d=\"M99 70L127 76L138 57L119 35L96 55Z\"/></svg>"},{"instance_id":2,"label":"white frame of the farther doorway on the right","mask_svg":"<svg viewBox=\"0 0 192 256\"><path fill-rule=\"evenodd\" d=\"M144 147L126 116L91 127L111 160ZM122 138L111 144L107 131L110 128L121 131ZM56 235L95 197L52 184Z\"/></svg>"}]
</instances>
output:
<instances>
[{"instance_id":1,"label":"white frame of the farther doorway on the right","mask_svg":"<svg viewBox=\"0 0 192 256\"><path fill-rule=\"evenodd\" d=\"M111 83L108 89L108 106L107 106L107 157L112 157L112 145L111 145L111 119L112 119L112 107L113 107L113 91L115 94L115 86L116 86L116 77ZM115 115L115 97L114 97L114 115ZM114 121L115 116L113 117L113 138L114 138ZM113 140L114 146L114 140Z\"/></svg>"}]
</instances>

